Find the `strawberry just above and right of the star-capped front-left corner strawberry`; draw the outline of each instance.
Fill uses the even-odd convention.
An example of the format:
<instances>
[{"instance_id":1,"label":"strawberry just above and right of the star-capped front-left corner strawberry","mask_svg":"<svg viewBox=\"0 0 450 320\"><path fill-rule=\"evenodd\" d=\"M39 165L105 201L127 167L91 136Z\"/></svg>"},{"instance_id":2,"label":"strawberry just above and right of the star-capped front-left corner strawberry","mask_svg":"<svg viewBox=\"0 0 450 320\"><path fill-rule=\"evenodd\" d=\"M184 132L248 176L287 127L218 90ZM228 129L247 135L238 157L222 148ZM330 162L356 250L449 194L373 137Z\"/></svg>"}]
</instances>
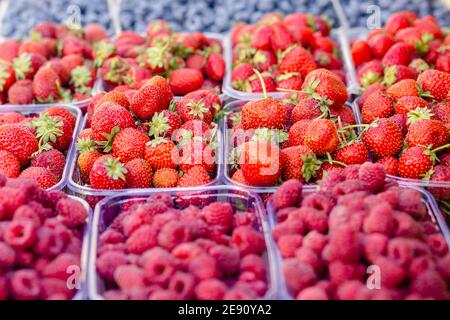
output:
<instances>
[{"instance_id":1,"label":"strawberry just above and right of the star-capped front-left corner strawberry","mask_svg":"<svg viewBox=\"0 0 450 320\"><path fill-rule=\"evenodd\" d=\"M114 138L112 151L115 158L123 163L136 158L144 158L144 150L150 138L134 128L121 130Z\"/></svg>"}]
</instances>

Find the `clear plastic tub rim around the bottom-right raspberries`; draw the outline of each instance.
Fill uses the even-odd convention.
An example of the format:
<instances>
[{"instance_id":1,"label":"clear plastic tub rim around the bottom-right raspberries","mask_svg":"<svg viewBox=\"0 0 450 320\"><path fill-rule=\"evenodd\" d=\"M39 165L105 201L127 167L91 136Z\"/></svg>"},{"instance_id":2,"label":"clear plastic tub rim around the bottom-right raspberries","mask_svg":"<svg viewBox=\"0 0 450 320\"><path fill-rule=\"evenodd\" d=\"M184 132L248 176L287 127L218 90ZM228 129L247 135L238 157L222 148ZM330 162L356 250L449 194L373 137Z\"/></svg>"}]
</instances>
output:
<instances>
[{"instance_id":1,"label":"clear plastic tub rim around the bottom-right raspberries","mask_svg":"<svg viewBox=\"0 0 450 320\"><path fill-rule=\"evenodd\" d=\"M441 212L438 208L438 205L436 203L436 200L433 198L433 196L429 192L425 191L423 188L420 188L418 186L402 184L402 183L400 183L399 186L402 188L417 190L422 194L422 201L427 208L427 212L428 212L428 215L429 215L431 221L435 224L436 230L439 230L442 233L442 235L444 236L444 238L447 242L447 245L450 248L450 230L445 222L445 217L441 214ZM309 195L314 192L317 192L317 191L304 189L303 195ZM267 203L267 215L268 215L271 230L273 230L273 227L277 224L277 221L276 221L276 210L273 207L271 199L269 199L269 201ZM280 251L278 250L278 246L277 246L275 240L273 240L272 236L270 237L270 239L272 241L272 247L275 248L274 254L276 257L277 268L279 270L280 297L281 297L281 299L293 299L292 295L290 294L289 290L286 287L286 282L285 282L283 273L281 271L283 258L281 257Z\"/></svg>"}]
</instances>

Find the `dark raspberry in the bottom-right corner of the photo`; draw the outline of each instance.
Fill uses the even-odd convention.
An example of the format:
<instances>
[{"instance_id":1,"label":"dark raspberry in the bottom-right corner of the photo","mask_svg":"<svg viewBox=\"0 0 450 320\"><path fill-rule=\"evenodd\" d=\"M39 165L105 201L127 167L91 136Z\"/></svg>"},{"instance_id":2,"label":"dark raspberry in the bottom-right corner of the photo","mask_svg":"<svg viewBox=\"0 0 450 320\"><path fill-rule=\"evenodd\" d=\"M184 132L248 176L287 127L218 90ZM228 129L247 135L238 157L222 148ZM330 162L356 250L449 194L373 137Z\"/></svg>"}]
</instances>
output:
<instances>
[{"instance_id":1,"label":"dark raspberry in the bottom-right corner of the photo","mask_svg":"<svg viewBox=\"0 0 450 320\"><path fill-rule=\"evenodd\" d=\"M424 298L449 299L447 283L434 270L417 275L415 279L412 279L409 289L412 293L417 293Z\"/></svg>"}]
</instances>

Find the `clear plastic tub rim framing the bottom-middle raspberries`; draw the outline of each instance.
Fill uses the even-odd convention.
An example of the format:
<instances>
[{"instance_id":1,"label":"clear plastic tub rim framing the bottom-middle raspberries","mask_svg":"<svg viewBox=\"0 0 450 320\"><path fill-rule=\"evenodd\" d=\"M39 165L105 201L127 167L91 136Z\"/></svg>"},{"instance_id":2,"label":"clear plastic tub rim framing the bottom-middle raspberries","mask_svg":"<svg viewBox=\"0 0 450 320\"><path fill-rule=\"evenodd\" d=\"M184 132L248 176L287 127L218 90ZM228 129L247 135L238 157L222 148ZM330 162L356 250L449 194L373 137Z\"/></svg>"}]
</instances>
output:
<instances>
[{"instance_id":1,"label":"clear plastic tub rim framing the bottom-middle raspberries","mask_svg":"<svg viewBox=\"0 0 450 320\"><path fill-rule=\"evenodd\" d=\"M261 198L247 190L232 186L215 186L215 187L199 187L189 190L154 190L154 191L127 191L119 195L103 199L95 207L94 220L90 229L90 249L89 249L89 266L88 266L88 297L89 299L103 299L104 284L97 274L96 258L98 241L100 234L106 230L114 218L119 214L121 205L127 201L146 199L148 196L159 193L168 192L175 200L210 200L229 202L237 210L245 210L245 208L254 209L257 216L258 228L264 236L267 253L264 258L267 263L267 282L268 289L264 299L275 299L278 296L279 281L278 272L276 270L275 255L273 243L270 240L270 230L267 220L266 211Z\"/></svg>"}]
</instances>

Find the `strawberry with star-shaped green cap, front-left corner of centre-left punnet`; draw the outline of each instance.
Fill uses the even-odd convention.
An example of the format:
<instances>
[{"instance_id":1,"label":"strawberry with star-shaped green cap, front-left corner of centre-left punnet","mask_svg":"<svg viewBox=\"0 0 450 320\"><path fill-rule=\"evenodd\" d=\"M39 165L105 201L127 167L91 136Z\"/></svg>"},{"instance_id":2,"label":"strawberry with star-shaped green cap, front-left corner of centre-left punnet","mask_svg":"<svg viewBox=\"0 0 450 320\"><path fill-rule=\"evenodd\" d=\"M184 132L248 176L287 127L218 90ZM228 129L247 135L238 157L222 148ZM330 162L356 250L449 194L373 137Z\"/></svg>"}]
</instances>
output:
<instances>
[{"instance_id":1,"label":"strawberry with star-shaped green cap, front-left corner of centre-left punnet","mask_svg":"<svg viewBox=\"0 0 450 320\"><path fill-rule=\"evenodd\" d=\"M89 181L95 189L123 189L127 172L118 159L104 155L95 160L89 173Z\"/></svg>"}]
</instances>

